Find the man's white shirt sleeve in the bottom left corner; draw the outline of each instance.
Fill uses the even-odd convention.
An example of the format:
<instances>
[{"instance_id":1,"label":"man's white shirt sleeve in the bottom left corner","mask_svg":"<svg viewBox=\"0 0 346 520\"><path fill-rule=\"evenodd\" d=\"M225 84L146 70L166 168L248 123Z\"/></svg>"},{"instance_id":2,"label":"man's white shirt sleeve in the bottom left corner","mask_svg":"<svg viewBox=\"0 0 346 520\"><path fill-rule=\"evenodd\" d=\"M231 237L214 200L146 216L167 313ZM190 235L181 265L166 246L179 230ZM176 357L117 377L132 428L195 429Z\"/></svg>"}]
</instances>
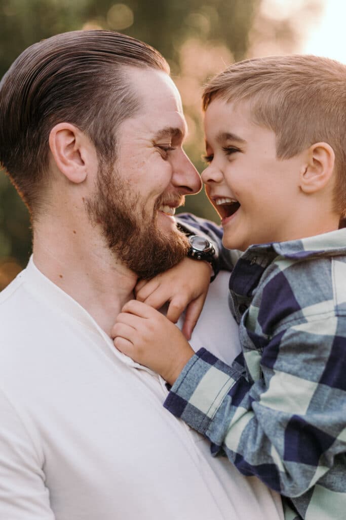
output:
<instances>
[{"instance_id":1,"label":"man's white shirt sleeve in the bottom left corner","mask_svg":"<svg viewBox=\"0 0 346 520\"><path fill-rule=\"evenodd\" d=\"M2 392L0 417L0 518L54 520L40 456Z\"/></svg>"}]
</instances>

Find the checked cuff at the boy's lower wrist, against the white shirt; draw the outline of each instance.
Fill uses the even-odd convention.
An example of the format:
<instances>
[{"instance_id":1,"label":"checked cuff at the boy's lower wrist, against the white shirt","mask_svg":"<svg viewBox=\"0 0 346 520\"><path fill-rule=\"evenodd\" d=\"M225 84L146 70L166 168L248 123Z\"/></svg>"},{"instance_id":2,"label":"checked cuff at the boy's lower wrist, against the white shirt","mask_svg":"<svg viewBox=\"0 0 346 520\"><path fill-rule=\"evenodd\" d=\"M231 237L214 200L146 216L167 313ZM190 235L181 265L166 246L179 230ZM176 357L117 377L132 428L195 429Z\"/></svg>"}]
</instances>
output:
<instances>
[{"instance_id":1,"label":"checked cuff at the boy's lower wrist, against the white shirt","mask_svg":"<svg viewBox=\"0 0 346 520\"><path fill-rule=\"evenodd\" d=\"M224 397L242 375L201 348L186 363L163 406L205 434Z\"/></svg>"}]
</instances>

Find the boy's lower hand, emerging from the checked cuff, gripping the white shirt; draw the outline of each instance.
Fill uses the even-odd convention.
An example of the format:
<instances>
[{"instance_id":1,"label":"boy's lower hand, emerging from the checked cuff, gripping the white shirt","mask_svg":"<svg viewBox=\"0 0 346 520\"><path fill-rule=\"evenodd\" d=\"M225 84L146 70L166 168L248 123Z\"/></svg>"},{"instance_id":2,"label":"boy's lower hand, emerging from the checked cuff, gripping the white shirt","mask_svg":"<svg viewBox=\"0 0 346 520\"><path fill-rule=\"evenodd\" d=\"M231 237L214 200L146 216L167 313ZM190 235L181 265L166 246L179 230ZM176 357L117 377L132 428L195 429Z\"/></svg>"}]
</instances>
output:
<instances>
[{"instance_id":1,"label":"boy's lower hand, emerging from the checked cuff, gripping the white shirt","mask_svg":"<svg viewBox=\"0 0 346 520\"><path fill-rule=\"evenodd\" d=\"M112 329L112 338L120 352L162 375L171 385L194 354L171 321L136 300L123 306Z\"/></svg>"}]
</instances>

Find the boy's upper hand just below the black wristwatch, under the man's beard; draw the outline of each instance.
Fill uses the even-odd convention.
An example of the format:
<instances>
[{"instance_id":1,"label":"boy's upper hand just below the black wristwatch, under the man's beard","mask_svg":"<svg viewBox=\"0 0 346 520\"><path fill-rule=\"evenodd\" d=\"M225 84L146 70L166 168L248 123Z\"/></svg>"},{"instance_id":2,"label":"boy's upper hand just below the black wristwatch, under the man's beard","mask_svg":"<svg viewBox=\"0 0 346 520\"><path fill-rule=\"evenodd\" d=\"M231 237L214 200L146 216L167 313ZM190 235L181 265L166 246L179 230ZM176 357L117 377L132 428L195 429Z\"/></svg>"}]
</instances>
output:
<instances>
[{"instance_id":1,"label":"boy's upper hand just below the black wristwatch, under the man's beard","mask_svg":"<svg viewBox=\"0 0 346 520\"><path fill-rule=\"evenodd\" d=\"M210 264L186 257L155 278L137 283L136 299L154 309L170 302L167 318L173 323L178 321L186 308L182 332L189 340L204 305L210 276Z\"/></svg>"}]
</instances>

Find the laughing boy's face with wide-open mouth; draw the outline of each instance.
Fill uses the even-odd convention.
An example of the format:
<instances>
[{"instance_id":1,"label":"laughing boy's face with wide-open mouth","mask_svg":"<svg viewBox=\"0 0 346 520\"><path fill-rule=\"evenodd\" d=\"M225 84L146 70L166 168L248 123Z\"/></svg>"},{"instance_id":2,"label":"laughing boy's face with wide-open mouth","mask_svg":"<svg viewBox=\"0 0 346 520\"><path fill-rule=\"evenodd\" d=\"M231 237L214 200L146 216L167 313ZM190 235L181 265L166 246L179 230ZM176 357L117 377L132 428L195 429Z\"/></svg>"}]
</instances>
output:
<instances>
[{"instance_id":1,"label":"laughing boy's face with wide-open mouth","mask_svg":"<svg viewBox=\"0 0 346 520\"><path fill-rule=\"evenodd\" d=\"M275 134L251 120L247 103L213 100L206 109L206 193L222 218L224 245L294 240L306 153L276 158Z\"/></svg>"}]
</instances>

